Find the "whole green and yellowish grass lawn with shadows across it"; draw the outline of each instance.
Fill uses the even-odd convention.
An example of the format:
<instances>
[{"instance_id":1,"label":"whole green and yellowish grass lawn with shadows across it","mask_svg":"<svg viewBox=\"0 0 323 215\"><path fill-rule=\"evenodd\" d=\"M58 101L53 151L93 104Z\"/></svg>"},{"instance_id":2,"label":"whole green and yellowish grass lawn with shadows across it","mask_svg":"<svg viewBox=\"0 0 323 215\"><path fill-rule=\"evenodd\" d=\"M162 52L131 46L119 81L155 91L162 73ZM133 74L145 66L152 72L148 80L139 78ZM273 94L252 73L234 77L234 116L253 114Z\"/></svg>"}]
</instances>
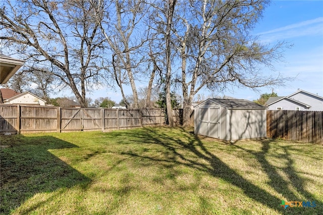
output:
<instances>
[{"instance_id":1,"label":"whole green and yellowish grass lawn with shadows across it","mask_svg":"<svg viewBox=\"0 0 323 215\"><path fill-rule=\"evenodd\" d=\"M1 137L1 214L322 214L322 145L192 131Z\"/></svg>"}]
</instances>

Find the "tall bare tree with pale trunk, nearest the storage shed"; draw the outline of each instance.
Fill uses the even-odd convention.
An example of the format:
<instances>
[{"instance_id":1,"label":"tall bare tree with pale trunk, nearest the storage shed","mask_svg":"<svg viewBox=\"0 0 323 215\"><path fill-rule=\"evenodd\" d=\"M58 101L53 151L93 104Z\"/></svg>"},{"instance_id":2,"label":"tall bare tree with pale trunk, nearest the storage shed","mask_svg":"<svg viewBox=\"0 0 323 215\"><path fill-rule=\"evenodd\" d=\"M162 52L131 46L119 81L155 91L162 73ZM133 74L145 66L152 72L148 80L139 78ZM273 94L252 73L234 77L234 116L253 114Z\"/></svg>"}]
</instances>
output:
<instances>
[{"instance_id":1,"label":"tall bare tree with pale trunk, nearest the storage shed","mask_svg":"<svg viewBox=\"0 0 323 215\"><path fill-rule=\"evenodd\" d=\"M183 1L174 18L173 45L181 59L183 124L189 124L194 95L203 87L250 88L282 84L280 75L264 75L286 43L270 47L250 35L267 1ZM184 13L185 11L185 13Z\"/></svg>"}]
</instances>

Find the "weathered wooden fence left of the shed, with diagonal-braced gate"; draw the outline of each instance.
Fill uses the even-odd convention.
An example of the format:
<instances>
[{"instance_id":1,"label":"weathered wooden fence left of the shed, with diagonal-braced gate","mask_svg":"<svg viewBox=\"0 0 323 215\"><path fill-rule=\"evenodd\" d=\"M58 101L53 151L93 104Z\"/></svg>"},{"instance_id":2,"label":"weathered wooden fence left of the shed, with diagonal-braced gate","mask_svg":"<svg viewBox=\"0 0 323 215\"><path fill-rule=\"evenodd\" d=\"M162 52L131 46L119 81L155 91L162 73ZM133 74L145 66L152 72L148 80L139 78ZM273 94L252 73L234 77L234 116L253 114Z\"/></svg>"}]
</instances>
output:
<instances>
[{"instance_id":1,"label":"weathered wooden fence left of the shed, with diagonal-braced gate","mask_svg":"<svg viewBox=\"0 0 323 215\"><path fill-rule=\"evenodd\" d=\"M77 109L56 106L1 104L1 134L119 130L164 125L161 109ZM174 121L182 123L182 110L174 110Z\"/></svg>"}]
</instances>

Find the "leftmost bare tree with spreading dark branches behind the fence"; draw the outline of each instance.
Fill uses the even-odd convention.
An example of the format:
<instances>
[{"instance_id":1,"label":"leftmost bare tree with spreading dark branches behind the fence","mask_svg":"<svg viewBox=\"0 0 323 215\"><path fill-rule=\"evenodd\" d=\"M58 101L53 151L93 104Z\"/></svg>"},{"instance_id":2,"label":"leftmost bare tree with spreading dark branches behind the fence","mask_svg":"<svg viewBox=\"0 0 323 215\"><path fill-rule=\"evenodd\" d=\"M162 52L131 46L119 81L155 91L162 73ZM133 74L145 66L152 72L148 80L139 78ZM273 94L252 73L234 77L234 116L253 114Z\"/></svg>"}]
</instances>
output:
<instances>
[{"instance_id":1,"label":"leftmost bare tree with spreading dark branches behind the fence","mask_svg":"<svg viewBox=\"0 0 323 215\"><path fill-rule=\"evenodd\" d=\"M12 5L15 3L15 5ZM87 1L17 1L0 9L0 39L28 63L48 68L86 106L86 90L99 81L104 38Z\"/></svg>"}]
</instances>

